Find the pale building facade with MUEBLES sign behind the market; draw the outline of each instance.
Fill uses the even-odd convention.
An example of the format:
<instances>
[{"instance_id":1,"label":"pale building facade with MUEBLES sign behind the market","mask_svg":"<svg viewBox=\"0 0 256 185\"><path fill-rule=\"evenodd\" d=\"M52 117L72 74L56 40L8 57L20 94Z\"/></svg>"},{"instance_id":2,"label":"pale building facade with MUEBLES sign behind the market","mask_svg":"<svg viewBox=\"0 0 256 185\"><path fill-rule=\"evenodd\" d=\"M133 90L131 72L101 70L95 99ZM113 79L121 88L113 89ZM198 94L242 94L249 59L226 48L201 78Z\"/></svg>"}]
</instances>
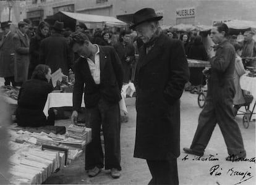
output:
<instances>
[{"instance_id":1,"label":"pale building facade with MUEBLES sign behind the market","mask_svg":"<svg viewBox=\"0 0 256 185\"><path fill-rule=\"evenodd\" d=\"M25 5L24 5L25 3ZM143 7L153 7L156 14L163 15L161 25L179 23L213 25L227 20L256 20L255 0L27 0L14 1L11 19L19 22L24 18L38 25L41 20L59 10L82 14L117 17L125 22L132 21L132 14ZM0 1L1 21L9 19L6 1Z\"/></svg>"}]
</instances>

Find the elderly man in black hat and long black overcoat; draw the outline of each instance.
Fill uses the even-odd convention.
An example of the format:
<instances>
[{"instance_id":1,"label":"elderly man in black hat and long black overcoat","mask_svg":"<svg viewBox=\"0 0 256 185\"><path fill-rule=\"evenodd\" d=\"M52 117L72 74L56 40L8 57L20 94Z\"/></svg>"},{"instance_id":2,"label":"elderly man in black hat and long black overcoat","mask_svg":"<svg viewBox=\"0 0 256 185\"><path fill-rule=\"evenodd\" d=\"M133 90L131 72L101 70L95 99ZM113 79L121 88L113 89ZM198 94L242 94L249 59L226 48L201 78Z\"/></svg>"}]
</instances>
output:
<instances>
[{"instance_id":1,"label":"elderly man in black hat and long black overcoat","mask_svg":"<svg viewBox=\"0 0 256 185\"><path fill-rule=\"evenodd\" d=\"M147 160L149 184L179 184L180 100L189 67L178 39L161 33L155 10L133 15L132 28L142 39L135 76L137 126L134 157Z\"/></svg>"}]
</instances>

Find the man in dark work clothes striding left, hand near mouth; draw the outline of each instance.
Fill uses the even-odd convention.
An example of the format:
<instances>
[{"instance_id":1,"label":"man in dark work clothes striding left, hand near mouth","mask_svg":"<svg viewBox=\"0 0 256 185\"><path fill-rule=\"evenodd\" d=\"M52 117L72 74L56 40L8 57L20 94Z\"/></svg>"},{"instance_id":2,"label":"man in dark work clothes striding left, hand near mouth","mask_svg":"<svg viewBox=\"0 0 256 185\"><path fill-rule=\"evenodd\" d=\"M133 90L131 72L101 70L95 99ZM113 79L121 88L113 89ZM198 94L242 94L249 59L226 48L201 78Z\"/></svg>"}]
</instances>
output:
<instances>
[{"instance_id":1,"label":"man in dark work clothes striding left, hand near mouth","mask_svg":"<svg viewBox=\"0 0 256 185\"><path fill-rule=\"evenodd\" d=\"M203 155L218 123L228 148L229 156L226 160L236 160L246 156L241 131L233 112L233 98L236 92L234 86L236 52L226 39L228 30L224 23L217 23L211 29L211 39L218 45L215 56L209 55L211 70L206 104L199 115L192 144L190 148L184 148L187 154Z\"/></svg>"}]
</instances>

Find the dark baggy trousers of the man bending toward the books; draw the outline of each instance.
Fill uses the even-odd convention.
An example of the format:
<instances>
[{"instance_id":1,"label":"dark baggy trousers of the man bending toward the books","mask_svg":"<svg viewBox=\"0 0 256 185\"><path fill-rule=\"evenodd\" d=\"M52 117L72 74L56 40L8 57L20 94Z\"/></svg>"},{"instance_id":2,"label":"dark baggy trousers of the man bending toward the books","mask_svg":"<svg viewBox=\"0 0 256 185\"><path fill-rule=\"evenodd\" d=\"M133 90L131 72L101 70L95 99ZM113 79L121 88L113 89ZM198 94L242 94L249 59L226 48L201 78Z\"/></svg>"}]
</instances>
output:
<instances>
[{"instance_id":1,"label":"dark baggy trousers of the man bending toward the books","mask_svg":"<svg viewBox=\"0 0 256 185\"><path fill-rule=\"evenodd\" d=\"M98 105L87 109L86 126L92 128L92 142L85 149L85 170L104 167L104 155L101 147L100 130L103 128L105 146L105 169L121 170L120 152L120 108L119 103L110 104L100 99Z\"/></svg>"}]
</instances>

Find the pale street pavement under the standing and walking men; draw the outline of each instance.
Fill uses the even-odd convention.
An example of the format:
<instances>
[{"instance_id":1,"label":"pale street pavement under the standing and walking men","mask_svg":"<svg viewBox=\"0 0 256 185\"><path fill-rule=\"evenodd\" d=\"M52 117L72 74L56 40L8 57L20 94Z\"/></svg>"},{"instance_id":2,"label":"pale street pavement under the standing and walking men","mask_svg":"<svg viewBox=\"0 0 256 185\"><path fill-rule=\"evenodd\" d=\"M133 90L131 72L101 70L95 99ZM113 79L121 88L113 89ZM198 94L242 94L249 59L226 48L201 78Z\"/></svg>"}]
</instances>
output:
<instances>
[{"instance_id":1,"label":"pale street pavement under the standing and walking men","mask_svg":"<svg viewBox=\"0 0 256 185\"><path fill-rule=\"evenodd\" d=\"M0 78L0 85L2 82ZM136 125L135 98L127 98L126 104L129 121L121 125L122 171L119 179L111 178L109 171L106 170L101 171L94 178L89 178L84 170L83 153L66 168L53 173L45 184L148 184L151 175L146 161L133 157ZM181 155L177 159L179 184L255 184L255 122L250 123L249 128L245 129L242 125L242 115L237 116L236 120L244 139L247 158L253 162L225 160L228 154L218 125L213 131L202 158L187 155L182 151L183 147L189 147L192 142L201 110L197 105L197 94L184 92L181 97ZM161 123L156 123L156 126L158 124ZM58 120L56 125L69 126L70 120Z\"/></svg>"}]
</instances>

